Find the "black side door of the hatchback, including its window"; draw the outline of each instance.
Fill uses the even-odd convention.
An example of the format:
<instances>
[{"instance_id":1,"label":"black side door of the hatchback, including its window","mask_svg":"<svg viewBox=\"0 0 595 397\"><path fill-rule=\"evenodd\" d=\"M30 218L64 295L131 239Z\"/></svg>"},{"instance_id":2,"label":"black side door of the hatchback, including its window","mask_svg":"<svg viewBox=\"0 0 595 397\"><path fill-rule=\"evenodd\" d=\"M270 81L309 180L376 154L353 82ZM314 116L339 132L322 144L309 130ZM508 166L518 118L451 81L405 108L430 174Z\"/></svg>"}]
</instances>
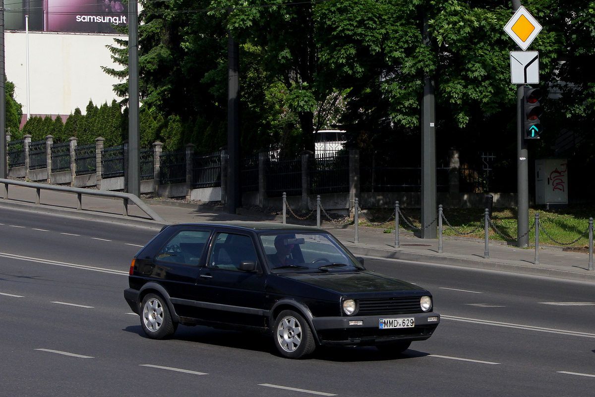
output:
<instances>
[{"instance_id":1,"label":"black side door of the hatchback, including its window","mask_svg":"<svg viewBox=\"0 0 595 397\"><path fill-rule=\"evenodd\" d=\"M255 269L240 269L242 262L253 262ZM197 281L200 317L234 326L264 327L266 274L258 258L254 240L248 234L215 233L208 262Z\"/></svg>"}]
</instances>

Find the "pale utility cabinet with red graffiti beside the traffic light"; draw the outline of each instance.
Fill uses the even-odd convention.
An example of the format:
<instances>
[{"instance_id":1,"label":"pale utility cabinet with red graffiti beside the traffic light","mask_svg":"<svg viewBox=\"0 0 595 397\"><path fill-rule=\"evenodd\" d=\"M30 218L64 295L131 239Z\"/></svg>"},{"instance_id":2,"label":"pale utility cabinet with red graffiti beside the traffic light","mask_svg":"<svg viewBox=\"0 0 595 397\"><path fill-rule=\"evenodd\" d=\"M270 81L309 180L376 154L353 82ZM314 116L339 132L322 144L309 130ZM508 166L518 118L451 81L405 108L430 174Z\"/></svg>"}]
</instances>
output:
<instances>
[{"instance_id":1,"label":"pale utility cabinet with red graffiti beside the traffic light","mask_svg":"<svg viewBox=\"0 0 595 397\"><path fill-rule=\"evenodd\" d=\"M535 204L568 204L568 159L541 158L535 161Z\"/></svg>"}]
</instances>

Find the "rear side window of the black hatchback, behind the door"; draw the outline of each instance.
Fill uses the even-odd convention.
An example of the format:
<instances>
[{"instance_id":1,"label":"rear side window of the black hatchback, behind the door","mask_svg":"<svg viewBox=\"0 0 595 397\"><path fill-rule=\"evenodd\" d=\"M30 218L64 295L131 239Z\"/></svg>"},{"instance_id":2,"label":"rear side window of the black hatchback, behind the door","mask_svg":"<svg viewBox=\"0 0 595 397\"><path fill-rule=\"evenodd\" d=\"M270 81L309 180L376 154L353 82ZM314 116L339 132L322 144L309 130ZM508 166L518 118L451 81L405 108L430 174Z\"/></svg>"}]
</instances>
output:
<instances>
[{"instance_id":1,"label":"rear side window of the black hatchback, behind the door","mask_svg":"<svg viewBox=\"0 0 595 397\"><path fill-rule=\"evenodd\" d=\"M180 230L165 243L156 259L196 266L201 262L210 235L208 230Z\"/></svg>"}]
</instances>

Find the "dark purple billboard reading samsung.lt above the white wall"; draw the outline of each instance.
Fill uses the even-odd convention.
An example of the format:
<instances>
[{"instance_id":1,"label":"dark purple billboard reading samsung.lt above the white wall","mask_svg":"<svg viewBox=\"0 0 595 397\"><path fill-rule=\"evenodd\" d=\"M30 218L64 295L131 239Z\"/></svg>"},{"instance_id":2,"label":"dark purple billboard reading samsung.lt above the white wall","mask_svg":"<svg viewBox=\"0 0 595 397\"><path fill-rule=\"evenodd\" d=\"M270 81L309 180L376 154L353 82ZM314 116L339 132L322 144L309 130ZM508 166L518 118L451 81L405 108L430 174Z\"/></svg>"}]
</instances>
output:
<instances>
[{"instance_id":1,"label":"dark purple billboard reading samsung.lt above the white wall","mask_svg":"<svg viewBox=\"0 0 595 397\"><path fill-rule=\"evenodd\" d=\"M128 23L123 0L6 0L5 4L11 8L6 30L25 30L25 15L29 30L42 32L117 33L114 25Z\"/></svg>"}]
</instances>

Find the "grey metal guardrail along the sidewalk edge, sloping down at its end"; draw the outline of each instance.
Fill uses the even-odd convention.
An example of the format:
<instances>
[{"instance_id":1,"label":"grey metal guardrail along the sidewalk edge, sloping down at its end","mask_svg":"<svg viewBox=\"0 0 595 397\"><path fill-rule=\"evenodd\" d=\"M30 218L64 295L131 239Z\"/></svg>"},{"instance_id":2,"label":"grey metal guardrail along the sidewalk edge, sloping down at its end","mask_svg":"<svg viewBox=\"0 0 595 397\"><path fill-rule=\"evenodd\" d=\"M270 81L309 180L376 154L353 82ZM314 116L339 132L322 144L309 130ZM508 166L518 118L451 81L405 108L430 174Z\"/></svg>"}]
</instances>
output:
<instances>
[{"instance_id":1,"label":"grey metal guardrail along the sidewalk edge, sloping down at its end","mask_svg":"<svg viewBox=\"0 0 595 397\"><path fill-rule=\"evenodd\" d=\"M121 198L123 202L122 215L128 216L128 204L129 201L133 202L134 205L140 208L145 214L151 217L152 220L158 222L165 222L164 218L160 217L155 211L151 210L140 198L130 193L123 192L109 192L105 190L91 190L82 189L81 187L70 187L70 186L58 186L58 185L45 185L43 183L23 182L20 180L12 179L1 179L0 185L2 185L2 197L8 199L8 185L31 187L37 190L37 198L35 204L40 204L41 190L54 190L55 192L67 192L76 193L77 195L77 210L83 209L83 195L88 196L101 196L110 198Z\"/></svg>"}]
</instances>

